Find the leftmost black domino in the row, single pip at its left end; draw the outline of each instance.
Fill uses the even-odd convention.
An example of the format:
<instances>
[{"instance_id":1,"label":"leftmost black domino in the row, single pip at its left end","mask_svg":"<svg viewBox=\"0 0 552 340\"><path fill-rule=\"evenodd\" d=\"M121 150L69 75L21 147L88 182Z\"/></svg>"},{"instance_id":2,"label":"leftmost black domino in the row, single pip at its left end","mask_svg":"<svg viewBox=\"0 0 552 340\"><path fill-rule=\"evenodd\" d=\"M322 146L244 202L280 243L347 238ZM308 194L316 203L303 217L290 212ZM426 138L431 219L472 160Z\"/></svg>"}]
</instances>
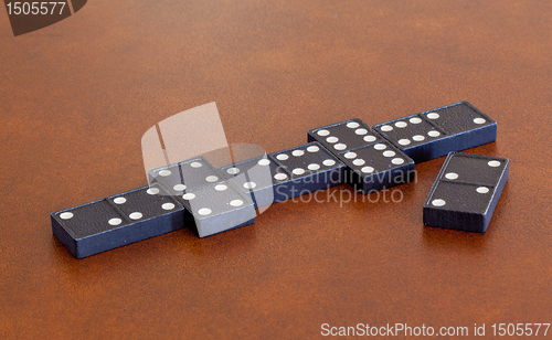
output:
<instances>
[{"instance_id":1,"label":"leftmost black domino in the row, single pip at its left end","mask_svg":"<svg viewBox=\"0 0 552 340\"><path fill-rule=\"evenodd\" d=\"M53 234L77 258L183 227L183 206L159 187L52 213Z\"/></svg>"}]
</instances>

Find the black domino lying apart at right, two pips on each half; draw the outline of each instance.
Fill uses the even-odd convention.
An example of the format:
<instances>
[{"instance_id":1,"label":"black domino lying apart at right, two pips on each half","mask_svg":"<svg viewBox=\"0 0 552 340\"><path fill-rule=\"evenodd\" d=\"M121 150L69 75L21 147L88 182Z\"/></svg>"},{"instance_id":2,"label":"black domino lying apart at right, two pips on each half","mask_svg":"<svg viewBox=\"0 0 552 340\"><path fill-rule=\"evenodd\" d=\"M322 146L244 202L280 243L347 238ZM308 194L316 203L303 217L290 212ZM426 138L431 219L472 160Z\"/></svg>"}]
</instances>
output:
<instances>
[{"instance_id":1,"label":"black domino lying apart at right, two pips on each half","mask_svg":"<svg viewBox=\"0 0 552 340\"><path fill-rule=\"evenodd\" d=\"M424 224L484 233L508 170L506 158L450 152L424 203Z\"/></svg>"}]
</instances>

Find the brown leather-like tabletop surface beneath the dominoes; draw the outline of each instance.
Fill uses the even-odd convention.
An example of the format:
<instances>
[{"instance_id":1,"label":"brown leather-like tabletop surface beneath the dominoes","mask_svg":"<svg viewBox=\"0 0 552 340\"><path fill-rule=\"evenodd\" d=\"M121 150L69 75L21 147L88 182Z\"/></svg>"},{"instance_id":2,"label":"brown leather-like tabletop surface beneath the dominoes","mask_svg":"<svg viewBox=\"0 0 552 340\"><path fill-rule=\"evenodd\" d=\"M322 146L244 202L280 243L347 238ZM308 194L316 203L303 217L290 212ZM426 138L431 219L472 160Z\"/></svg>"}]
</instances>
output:
<instances>
[{"instance_id":1,"label":"brown leather-like tabletop surface beneath the dominoes","mask_svg":"<svg viewBox=\"0 0 552 340\"><path fill-rule=\"evenodd\" d=\"M96 0L14 38L0 13L0 338L551 322L550 18L524 0ZM423 226L439 158L399 204L278 203L84 259L52 235L51 212L144 185L141 135L187 108L216 102L230 142L272 152L459 100L498 121L468 152L511 161L485 234Z\"/></svg>"}]
</instances>

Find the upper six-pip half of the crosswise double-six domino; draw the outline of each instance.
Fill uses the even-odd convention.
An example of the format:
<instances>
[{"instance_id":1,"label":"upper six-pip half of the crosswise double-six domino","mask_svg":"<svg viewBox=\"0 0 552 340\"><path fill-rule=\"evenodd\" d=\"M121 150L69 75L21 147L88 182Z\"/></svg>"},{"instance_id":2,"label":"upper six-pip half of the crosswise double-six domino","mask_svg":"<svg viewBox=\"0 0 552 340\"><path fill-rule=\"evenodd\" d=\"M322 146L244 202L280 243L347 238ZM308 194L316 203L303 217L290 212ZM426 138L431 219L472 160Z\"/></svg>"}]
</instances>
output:
<instances>
[{"instance_id":1,"label":"upper six-pip half of the crosswise double-six domino","mask_svg":"<svg viewBox=\"0 0 552 340\"><path fill-rule=\"evenodd\" d=\"M378 134L362 120L350 120L311 129L307 132L308 141L318 141L335 155L352 150L381 140Z\"/></svg>"}]
</instances>

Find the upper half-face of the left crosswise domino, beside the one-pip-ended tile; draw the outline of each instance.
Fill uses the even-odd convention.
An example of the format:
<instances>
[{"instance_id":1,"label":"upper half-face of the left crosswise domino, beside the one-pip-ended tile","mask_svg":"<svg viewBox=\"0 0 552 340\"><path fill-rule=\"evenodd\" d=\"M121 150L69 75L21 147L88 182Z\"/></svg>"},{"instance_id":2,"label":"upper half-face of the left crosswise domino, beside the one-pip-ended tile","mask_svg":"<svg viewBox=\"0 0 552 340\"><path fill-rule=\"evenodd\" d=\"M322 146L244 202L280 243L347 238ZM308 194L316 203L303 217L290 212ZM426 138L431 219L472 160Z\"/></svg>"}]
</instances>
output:
<instances>
[{"instance_id":1,"label":"upper half-face of the left crosswise domino, beside the one-pip-ended tile","mask_svg":"<svg viewBox=\"0 0 552 340\"><path fill-rule=\"evenodd\" d=\"M150 183L159 182L174 195L223 181L221 174L204 157L152 169L148 172L148 178Z\"/></svg>"}]
</instances>

